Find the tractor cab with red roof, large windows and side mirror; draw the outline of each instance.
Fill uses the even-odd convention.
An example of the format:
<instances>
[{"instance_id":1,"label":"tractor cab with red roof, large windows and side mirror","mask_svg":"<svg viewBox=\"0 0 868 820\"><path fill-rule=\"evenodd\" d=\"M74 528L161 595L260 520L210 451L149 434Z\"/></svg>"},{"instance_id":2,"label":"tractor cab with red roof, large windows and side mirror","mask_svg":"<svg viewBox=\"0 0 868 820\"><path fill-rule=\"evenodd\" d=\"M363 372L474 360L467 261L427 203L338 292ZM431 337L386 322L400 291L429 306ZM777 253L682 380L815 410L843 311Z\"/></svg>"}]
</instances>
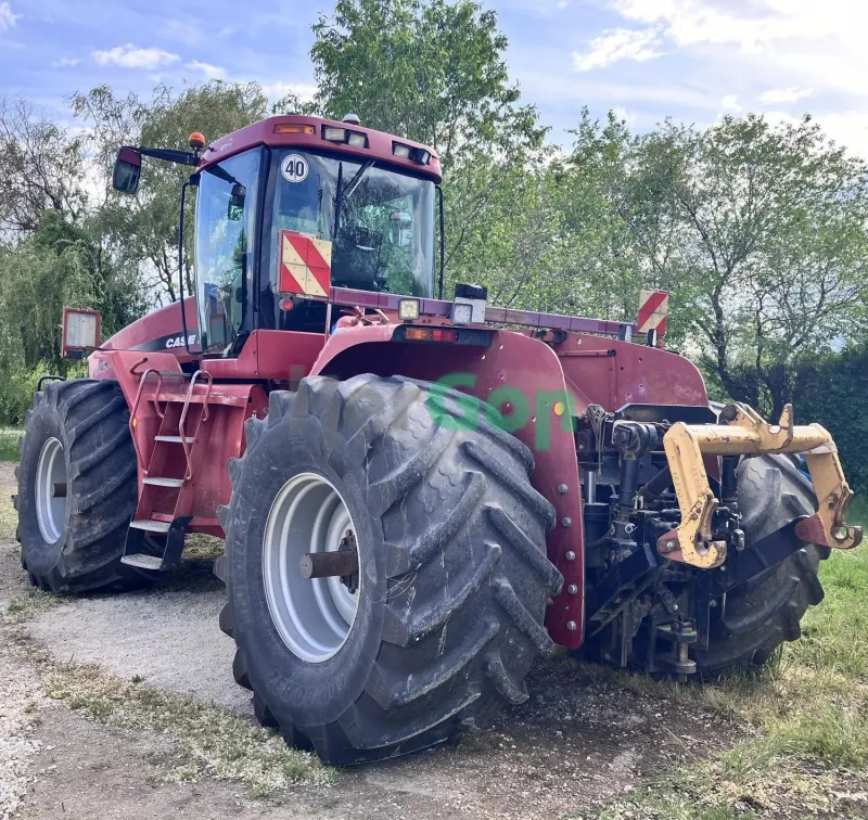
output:
<instances>
[{"instance_id":1,"label":"tractor cab with red roof, large windows and side mirror","mask_svg":"<svg viewBox=\"0 0 868 820\"><path fill-rule=\"evenodd\" d=\"M361 128L355 117L299 116L267 119L207 148L193 134L191 148L122 149L115 187L135 192L142 155L196 166L184 190L196 191L204 356L238 356L257 329L328 331L332 286L434 295L441 170L430 149Z\"/></svg>"}]
</instances>

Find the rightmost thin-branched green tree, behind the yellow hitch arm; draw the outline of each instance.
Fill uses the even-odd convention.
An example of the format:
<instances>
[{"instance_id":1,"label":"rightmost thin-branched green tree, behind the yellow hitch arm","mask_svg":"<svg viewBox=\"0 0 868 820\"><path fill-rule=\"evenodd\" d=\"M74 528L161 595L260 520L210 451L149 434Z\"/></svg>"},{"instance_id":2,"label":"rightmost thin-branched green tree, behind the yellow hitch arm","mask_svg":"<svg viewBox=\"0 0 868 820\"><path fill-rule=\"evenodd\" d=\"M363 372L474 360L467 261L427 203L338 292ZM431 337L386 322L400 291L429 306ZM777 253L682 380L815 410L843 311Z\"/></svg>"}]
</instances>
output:
<instances>
[{"instance_id":1,"label":"rightmost thin-branched green tree, behind the yellow hitch arm","mask_svg":"<svg viewBox=\"0 0 868 820\"><path fill-rule=\"evenodd\" d=\"M690 330L726 390L777 417L800 358L865 333L866 165L809 117L669 127Z\"/></svg>"}]
</instances>

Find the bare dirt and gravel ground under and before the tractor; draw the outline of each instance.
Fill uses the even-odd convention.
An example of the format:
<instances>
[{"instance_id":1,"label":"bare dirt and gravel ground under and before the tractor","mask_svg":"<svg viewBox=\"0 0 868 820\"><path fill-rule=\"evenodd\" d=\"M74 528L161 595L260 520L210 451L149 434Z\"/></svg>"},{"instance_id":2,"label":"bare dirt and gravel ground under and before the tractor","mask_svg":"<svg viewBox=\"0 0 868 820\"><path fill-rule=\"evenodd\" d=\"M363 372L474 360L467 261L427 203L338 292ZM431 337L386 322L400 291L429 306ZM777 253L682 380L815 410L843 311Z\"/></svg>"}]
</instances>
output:
<instances>
[{"instance_id":1,"label":"bare dirt and gravel ground under and before the tractor","mask_svg":"<svg viewBox=\"0 0 868 820\"><path fill-rule=\"evenodd\" d=\"M12 465L0 463L3 499L11 484ZM0 611L28 590L17 546L0 540ZM644 778L719 749L743 731L674 701L600 682L561 657L537 664L529 701L506 710L492 732L339 770L329 785L254 798L243 782L166 782L166 771L179 765L167 736L88 719L46 697L34 677L37 662L28 658L42 652L252 719L247 693L232 681L232 643L217 628L222 595L205 568L194 567L144 592L69 599L0 626L0 681L18 681L14 692L0 684L2 820L590 818ZM22 646L34 652L12 651ZM3 813L4 790L21 796L12 815Z\"/></svg>"}]
</instances>

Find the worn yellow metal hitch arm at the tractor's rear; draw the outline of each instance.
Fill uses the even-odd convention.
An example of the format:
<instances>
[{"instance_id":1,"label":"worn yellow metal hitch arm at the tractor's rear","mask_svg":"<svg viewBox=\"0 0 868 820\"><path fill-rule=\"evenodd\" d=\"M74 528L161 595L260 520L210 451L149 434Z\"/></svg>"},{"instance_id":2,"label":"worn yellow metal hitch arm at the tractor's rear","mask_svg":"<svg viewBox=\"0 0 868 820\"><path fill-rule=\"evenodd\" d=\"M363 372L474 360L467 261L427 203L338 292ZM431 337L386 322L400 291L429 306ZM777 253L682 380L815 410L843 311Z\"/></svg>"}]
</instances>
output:
<instances>
[{"instance_id":1,"label":"worn yellow metal hitch arm at the tractor's rear","mask_svg":"<svg viewBox=\"0 0 868 820\"><path fill-rule=\"evenodd\" d=\"M726 541L712 538L712 516L719 502L709 486L703 456L762 456L804 453L818 510L796 525L806 543L848 550L863 537L861 527L848 527L844 511L853 491L844 478L838 448L819 424L795 425L791 405L778 424L769 424L753 408L728 405L723 424L673 424L663 437L672 482L681 510L681 524L658 539L658 551L672 561L710 569L726 560Z\"/></svg>"}]
</instances>

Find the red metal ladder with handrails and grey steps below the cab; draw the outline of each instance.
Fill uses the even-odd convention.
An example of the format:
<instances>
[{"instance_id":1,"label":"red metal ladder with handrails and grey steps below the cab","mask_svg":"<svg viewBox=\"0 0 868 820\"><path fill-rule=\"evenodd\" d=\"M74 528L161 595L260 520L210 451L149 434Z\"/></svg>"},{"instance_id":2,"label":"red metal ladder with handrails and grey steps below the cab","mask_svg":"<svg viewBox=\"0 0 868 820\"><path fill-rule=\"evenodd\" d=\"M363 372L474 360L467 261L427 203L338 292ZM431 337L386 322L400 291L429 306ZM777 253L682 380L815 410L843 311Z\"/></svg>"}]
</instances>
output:
<instances>
[{"instance_id":1,"label":"red metal ladder with handrails and grey steps below the cab","mask_svg":"<svg viewBox=\"0 0 868 820\"><path fill-rule=\"evenodd\" d=\"M136 440L137 412L145 382L151 374L156 375L156 388L153 396L144 400L152 402L154 412L159 417L159 431L154 436L153 451L144 471L139 504L127 531L120 563L140 569L158 571L169 569L181 560L187 526L193 518L190 513L193 501L193 489L190 486L193 478L192 453L203 424L207 424L210 418L208 399L213 379L210 373L201 370L192 376L153 368L142 373L129 420L130 434L140 461L143 459ZM183 381L189 379L183 397L180 394L164 393L164 377ZM202 386L200 380L205 382L204 394L195 392L197 384ZM197 406L197 411L191 431L188 417L192 405ZM179 445L183 460L179 458ZM182 475L178 474L179 466ZM157 552L162 554L156 554Z\"/></svg>"}]
</instances>

